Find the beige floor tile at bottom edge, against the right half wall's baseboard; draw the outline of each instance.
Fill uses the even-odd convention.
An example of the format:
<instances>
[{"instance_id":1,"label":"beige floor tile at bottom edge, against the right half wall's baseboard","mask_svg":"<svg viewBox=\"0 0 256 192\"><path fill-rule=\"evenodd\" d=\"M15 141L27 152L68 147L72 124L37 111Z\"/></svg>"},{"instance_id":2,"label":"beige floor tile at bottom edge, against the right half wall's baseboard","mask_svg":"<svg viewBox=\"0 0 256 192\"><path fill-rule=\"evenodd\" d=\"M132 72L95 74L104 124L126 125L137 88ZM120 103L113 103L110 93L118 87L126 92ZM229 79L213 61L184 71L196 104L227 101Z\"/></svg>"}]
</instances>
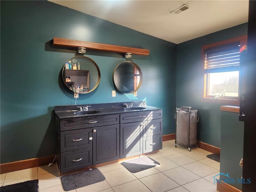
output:
<instances>
[{"instance_id":1,"label":"beige floor tile at bottom edge, against the right half wall's baseboard","mask_svg":"<svg viewBox=\"0 0 256 192\"><path fill-rule=\"evenodd\" d=\"M183 185L190 192L216 192L216 186L201 178Z\"/></svg>"}]
</instances>

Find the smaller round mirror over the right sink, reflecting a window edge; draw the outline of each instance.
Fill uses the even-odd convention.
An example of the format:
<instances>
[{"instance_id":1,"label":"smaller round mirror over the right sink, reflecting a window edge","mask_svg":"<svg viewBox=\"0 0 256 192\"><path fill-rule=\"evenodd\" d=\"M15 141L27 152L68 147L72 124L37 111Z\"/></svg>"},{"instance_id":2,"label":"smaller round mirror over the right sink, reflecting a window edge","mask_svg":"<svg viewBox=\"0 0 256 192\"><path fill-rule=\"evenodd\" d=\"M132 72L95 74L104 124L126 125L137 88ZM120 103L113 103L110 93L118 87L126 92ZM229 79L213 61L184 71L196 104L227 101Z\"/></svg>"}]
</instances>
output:
<instances>
[{"instance_id":1,"label":"smaller round mirror over the right sink, reflecting a window edge","mask_svg":"<svg viewBox=\"0 0 256 192\"><path fill-rule=\"evenodd\" d=\"M142 84L142 72L139 66L131 61L124 61L114 68L113 83L122 93L134 93Z\"/></svg>"}]
</instances>

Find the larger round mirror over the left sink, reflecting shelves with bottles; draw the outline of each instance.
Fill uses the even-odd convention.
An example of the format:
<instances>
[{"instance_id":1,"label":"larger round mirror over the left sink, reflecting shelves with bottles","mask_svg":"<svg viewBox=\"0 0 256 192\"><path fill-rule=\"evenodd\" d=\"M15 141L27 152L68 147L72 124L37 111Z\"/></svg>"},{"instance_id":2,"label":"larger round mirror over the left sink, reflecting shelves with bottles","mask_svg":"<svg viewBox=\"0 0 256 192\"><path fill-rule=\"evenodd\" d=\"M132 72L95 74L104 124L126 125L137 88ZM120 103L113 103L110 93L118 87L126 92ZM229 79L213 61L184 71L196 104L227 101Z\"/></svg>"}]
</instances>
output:
<instances>
[{"instance_id":1,"label":"larger round mirror over the left sink, reflecting shelves with bottles","mask_svg":"<svg viewBox=\"0 0 256 192\"><path fill-rule=\"evenodd\" d=\"M85 56L74 56L64 64L62 78L73 92L90 93L100 83L100 69L94 60Z\"/></svg>"}]
</instances>

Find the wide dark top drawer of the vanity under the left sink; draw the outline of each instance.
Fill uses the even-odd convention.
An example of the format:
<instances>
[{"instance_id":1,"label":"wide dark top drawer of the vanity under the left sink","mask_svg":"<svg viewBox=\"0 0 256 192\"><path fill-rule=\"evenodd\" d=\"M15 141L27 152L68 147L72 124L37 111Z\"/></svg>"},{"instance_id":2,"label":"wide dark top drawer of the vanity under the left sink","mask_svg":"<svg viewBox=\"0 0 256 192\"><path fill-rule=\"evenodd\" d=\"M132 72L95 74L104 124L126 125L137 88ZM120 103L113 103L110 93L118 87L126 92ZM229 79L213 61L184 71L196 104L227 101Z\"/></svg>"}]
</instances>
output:
<instances>
[{"instance_id":1,"label":"wide dark top drawer of the vanity under the left sink","mask_svg":"<svg viewBox=\"0 0 256 192\"><path fill-rule=\"evenodd\" d=\"M119 124L119 114L70 118L60 121L60 131Z\"/></svg>"}]
</instances>

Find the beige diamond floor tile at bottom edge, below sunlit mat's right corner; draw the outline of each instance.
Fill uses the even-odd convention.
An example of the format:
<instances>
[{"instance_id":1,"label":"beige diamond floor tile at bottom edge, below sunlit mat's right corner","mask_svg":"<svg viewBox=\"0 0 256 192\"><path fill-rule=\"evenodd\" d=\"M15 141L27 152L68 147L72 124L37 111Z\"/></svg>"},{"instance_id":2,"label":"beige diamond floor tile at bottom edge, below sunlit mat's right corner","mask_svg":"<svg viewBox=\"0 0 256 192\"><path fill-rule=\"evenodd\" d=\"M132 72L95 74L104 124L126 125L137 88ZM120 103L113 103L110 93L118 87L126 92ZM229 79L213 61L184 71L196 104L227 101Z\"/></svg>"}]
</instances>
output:
<instances>
[{"instance_id":1,"label":"beige diamond floor tile at bottom edge, below sunlit mat's right corner","mask_svg":"<svg viewBox=\"0 0 256 192\"><path fill-rule=\"evenodd\" d=\"M152 192L164 192L179 186L179 184L162 173L141 178L140 181Z\"/></svg>"}]
</instances>

